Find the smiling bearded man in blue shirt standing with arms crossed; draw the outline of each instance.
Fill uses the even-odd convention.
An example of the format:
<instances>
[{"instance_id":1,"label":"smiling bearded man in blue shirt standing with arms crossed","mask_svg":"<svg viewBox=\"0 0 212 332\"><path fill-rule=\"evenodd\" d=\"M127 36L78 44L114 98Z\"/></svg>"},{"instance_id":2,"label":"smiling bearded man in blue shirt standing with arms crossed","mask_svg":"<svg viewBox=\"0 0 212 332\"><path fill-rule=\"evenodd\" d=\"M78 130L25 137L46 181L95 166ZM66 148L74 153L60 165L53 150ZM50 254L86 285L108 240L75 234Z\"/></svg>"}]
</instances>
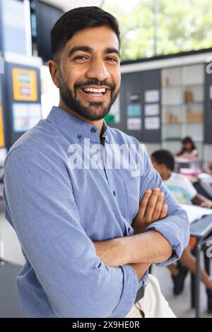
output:
<instances>
[{"instance_id":1,"label":"smiling bearded man in blue shirt standing with arms crossed","mask_svg":"<svg viewBox=\"0 0 212 332\"><path fill-rule=\"evenodd\" d=\"M117 20L97 7L65 13L52 29L52 54L59 107L14 144L5 164L6 218L26 259L23 312L173 317L146 271L179 259L189 223L139 142L103 121L119 93Z\"/></svg>"}]
</instances>

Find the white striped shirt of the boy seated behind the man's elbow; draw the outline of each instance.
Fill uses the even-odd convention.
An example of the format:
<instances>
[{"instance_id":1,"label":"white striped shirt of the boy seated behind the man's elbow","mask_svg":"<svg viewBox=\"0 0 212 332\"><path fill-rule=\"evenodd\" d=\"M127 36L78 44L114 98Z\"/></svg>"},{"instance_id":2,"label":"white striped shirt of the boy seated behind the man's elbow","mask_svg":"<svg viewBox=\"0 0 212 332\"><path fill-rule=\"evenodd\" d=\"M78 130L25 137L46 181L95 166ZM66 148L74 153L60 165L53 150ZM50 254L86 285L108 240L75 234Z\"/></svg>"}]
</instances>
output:
<instances>
[{"instance_id":1,"label":"white striped shirt of the boy seated behind the man's elbow","mask_svg":"<svg viewBox=\"0 0 212 332\"><path fill-rule=\"evenodd\" d=\"M192 198L197 194L189 179L182 174L172 172L170 178L164 183L181 204L191 204Z\"/></svg>"}]
</instances>

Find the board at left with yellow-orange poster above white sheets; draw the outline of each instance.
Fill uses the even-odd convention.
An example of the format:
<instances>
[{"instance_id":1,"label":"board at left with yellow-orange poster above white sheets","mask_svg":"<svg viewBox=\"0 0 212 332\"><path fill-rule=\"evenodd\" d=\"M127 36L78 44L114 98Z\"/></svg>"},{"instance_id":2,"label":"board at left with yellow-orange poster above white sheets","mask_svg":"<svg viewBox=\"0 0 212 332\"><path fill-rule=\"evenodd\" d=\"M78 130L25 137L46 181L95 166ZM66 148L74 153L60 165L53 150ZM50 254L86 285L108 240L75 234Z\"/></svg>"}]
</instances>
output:
<instances>
[{"instance_id":1,"label":"board at left with yellow-orange poster above white sheets","mask_svg":"<svg viewBox=\"0 0 212 332\"><path fill-rule=\"evenodd\" d=\"M6 62L3 89L4 138L10 148L42 118L39 67Z\"/></svg>"}]
</instances>

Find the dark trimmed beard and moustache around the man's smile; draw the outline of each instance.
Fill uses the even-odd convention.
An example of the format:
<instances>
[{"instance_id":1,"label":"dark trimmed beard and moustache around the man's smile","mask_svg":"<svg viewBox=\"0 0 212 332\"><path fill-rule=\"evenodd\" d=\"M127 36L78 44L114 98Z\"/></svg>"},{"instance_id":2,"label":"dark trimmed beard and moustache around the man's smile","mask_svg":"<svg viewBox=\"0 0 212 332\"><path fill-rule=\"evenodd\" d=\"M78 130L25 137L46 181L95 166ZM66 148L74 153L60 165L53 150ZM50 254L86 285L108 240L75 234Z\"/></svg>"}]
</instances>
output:
<instances>
[{"instance_id":1,"label":"dark trimmed beard and moustache around the man's smile","mask_svg":"<svg viewBox=\"0 0 212 332\"><path fill-rule=\"evenodd\" d=\"M101 88L101 86L107 86L110 88L110 102L108 105L104 106L104 102L88 102L88 106L84 106L82 102L77 99L77 89L86 85L98 85L99 88ZM62 81L61 76L59 77L59 93L66 107L69 107L73 112L90 121L103 119L110 112L112 104L119 95L119 90L116 93L114 93L114 90L114 83L108 83L106 81L100 82L92 79L87 82L75 83L72 91L69 89L69 85Z\"/></svg>"}]
</instances>

